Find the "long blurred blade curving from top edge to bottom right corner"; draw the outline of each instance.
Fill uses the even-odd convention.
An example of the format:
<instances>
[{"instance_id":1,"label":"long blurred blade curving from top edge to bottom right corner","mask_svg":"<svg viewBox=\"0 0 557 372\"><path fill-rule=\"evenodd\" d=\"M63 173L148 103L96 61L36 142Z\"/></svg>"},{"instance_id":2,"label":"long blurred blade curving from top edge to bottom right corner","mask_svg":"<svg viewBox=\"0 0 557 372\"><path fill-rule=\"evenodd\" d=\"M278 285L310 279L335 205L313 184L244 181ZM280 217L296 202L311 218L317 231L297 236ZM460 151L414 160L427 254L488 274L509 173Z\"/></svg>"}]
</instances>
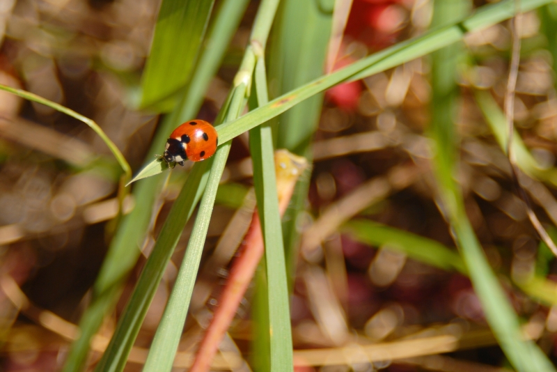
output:
<instances>
[{"instance_id":1,"label":"long blurred blade curving from top edge to bottom right corner","mask_svg":"<svg viewBox=\"0 0 557 372\"><path fill-rule=\"evenodd\" d=\"M508 4L505 5L506 8L503 9L508 12ZM462 0L437 1L434 8L434 24L444 24L459 17L464 13L466 6L469 6L469 3ZM511 3L511 6L514 6L514 3ZM485 24L485 13L487 12L479 13L476 24ZM462 194L453 178L457 173L458 144L453 121L458 93L456 68L461 54L459 45L452 45L432 54L431 133L437 147L434 168L442 210L469 270L473 288L483 305L487 323L512 366L518 371L555 371L538 346L522 338L517 314L489 267L487 257L466 216Z\"/></svg>"}]
</instances>

